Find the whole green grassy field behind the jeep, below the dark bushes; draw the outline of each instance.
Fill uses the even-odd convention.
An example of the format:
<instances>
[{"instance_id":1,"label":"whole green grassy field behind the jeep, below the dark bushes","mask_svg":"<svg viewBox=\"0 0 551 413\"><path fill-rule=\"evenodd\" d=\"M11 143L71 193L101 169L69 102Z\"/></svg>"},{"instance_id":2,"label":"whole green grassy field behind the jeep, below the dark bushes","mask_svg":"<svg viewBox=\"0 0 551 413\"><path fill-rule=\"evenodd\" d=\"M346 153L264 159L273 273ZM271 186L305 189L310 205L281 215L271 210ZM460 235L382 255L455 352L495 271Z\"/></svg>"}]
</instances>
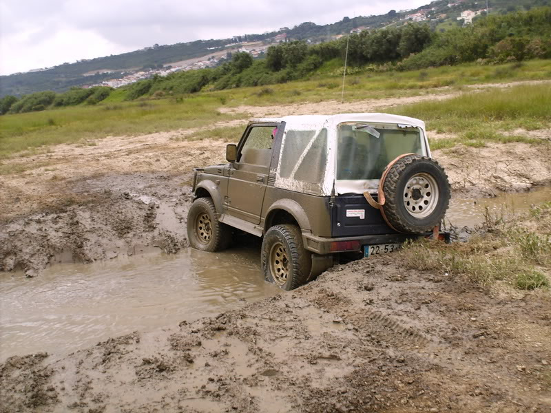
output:
<instances>
[{"instance_id":1,"label":"whole green grassy field behind the jeep, below the dark bushes","mask_svg":"<svg viewBox=\"0 0 551 413\"><path fill-rule=\"evenodd\" d=\"M449 93L450 90L460 92L465 85L542 79L551 79L549 60L492 66L457 65L411 72L378 73L370 72L369 68L364 67L346 76L344 99L352 101L404 97L426 93ZM435 89L443 86L450 89ZM124 101L125 91L121 89L96 106L79 105L1 116L0 158L21 153L24 155L28 151L32 153L37 148L42 150L59 143L82 143L105 136L141 135L200 127L219 120L248 116L221 114L219 108L225 106L340 101L341 87L342 68L328 62L308 81L269 87L205 91L187 96L132 102ZM537 100L533 100L532 94L539 96ZM492 90L487 94L473 95L476 97L471 98L466 94L446 103L423 103L395 111L427 120L431 129L459 133L461 139L469 145L481 145L481 140L505 139L494 134L497 129L510 130L517 126L535 129L548 125L550 118L544 108L550 107L550 95L548 86L523 86L515 92ZM484 96L484 99L481 99L481 96ZM500 114L505 117L500 117ZM475 127L470 121L473 118L482 123ZM200 137L202 136L195 138ZM436 145L455 143L457 142Z\"/></svg>"}]
</instances>

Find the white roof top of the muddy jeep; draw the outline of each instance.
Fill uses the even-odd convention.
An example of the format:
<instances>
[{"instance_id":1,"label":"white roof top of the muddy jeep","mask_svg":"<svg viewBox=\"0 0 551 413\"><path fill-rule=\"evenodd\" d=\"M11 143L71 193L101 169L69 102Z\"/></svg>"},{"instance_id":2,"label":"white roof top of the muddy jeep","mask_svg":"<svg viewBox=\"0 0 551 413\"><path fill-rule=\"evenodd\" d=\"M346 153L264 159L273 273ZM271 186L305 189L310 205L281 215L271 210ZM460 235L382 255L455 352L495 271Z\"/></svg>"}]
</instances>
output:
<instances>
[{"instance_id":1,"label":"white roof top of the muddy jeep","mask_svg":"<svg viewBox=\"0 0 551 413\"><path fill-rule=\"evenodd\" d=\"M256 118L252 119L251 122L285 122L288 127L293 127L293 125L317 125L320 127L324 124L336 126L343 122L399 123L425 129L425 123L422 120L392 114L294 115L283 116L282 118Z\"/></svg>"}]
</instances>

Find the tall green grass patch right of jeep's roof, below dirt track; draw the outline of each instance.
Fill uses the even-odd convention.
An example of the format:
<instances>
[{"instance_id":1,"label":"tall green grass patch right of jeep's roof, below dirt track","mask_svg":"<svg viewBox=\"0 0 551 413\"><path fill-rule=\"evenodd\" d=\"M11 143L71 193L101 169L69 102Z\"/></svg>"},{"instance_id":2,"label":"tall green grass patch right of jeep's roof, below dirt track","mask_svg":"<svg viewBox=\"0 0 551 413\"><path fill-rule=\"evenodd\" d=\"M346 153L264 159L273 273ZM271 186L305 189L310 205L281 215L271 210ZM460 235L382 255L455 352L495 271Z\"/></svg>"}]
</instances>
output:
<instances>
[{"instance_id":1,"label":"tall green grass patch right of jeep's roof, below dirt track","mask_svg":"<svg viewBox=\"0 0 551 413\"><path fill-rule=\"evenodd\" d=\"M431 142L432 149L444 149L458 143L471 147L484 147L488 142L543 143L545 140L510 131L550 127L550 107L551 85L519 85L467 92L448 100L396 107L390 112L423 119L429 130L455 134L456 138Z\"/></svg>"}]
</instances>

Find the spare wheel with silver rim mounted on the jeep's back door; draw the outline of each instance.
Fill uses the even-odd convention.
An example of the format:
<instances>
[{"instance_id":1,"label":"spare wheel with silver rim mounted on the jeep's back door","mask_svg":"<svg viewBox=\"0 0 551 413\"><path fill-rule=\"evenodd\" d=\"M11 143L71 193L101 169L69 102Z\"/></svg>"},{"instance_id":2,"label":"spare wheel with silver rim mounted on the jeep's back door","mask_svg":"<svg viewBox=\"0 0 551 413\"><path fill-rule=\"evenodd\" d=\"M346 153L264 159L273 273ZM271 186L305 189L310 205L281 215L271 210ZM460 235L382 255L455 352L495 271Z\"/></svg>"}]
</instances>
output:
<instances>
[{"instance_id":1,"label":"spare wheel with silver rim mounted on the jeep's back door","mask_svg":"<svg viewBox=\"0 0 551 413\"><path fill-rule=\"evenodd\" d=\"M411 155L388 171L383 211L402 233L426 233L439 225L450 203L450 182L444 169L431 158Z\"/></svg>"}]
</instances>

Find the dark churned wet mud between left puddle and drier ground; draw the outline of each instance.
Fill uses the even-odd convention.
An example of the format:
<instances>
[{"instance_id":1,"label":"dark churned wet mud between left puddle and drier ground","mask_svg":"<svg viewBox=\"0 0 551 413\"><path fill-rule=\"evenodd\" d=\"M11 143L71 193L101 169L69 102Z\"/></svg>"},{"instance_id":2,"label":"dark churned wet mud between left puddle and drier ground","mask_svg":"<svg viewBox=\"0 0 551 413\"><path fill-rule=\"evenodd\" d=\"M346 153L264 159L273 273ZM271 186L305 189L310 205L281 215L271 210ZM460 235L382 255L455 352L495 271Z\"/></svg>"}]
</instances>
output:
<instances>
[{"instance_id":1,"label":"dark churned wet mud between left puddle and drier ground","mask_svg":"<svg viewBox=\"0 0 551 413\"><path fill-rule=\"evenodd\" d=\"M94 262L155 248L180 251L187 246L191 197L182 179L139 173L70 182L74 204L3 224L0 271L21 269L34 276L56 262Z\"/></svg>"}]
</instances>

